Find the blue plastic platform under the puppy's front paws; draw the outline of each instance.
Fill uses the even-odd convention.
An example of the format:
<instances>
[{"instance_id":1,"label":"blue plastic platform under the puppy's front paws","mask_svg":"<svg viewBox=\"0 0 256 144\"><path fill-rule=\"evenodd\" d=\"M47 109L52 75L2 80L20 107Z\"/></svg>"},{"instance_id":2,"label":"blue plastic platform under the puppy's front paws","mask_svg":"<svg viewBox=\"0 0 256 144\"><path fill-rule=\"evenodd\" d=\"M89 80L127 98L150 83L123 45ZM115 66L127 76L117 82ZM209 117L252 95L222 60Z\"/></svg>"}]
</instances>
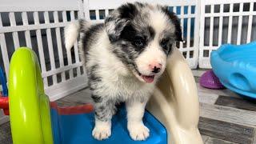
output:
<instances>
[{"instance_id":1,"label":"blue plastic platform under the puppy's front paws","mask_svg":"<svg viewBox=\"0 0 256 144\"><path fill-rule=\"evenodd\" d=\"M94 113L60 115L57 110L51 110L54 144L166 144L167 131L162 123L146 111L143 122L150 129L150 137L146 141L134 141L126 128L126 110L124 106L112 119L112 134L110 138L98 141L91 132L94 127Z\"/></svg>"}]
</instances>

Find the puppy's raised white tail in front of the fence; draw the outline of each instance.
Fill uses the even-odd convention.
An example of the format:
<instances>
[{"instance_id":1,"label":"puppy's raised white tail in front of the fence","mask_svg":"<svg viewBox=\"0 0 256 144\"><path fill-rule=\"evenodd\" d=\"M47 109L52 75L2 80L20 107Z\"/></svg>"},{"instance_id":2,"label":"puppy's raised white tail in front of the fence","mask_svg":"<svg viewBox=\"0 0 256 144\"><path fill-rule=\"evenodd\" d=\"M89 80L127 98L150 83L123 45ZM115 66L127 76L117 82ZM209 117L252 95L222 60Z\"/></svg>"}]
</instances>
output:
<instances>
[{"instance_id":1,"label":"puppy's raised white tail in front of the fence","mask_svg":"<svg viewBox=\"0 0 256 144\"><path fill-rule=\"evenodd\" d=\"M65 27L64 35L66 50L70 50L74 46L74 42L76 42L80 32L88 29L89 26L89 22L80 19L76 22L70 23L70 25Z\"/></svg>"}]
</instances>

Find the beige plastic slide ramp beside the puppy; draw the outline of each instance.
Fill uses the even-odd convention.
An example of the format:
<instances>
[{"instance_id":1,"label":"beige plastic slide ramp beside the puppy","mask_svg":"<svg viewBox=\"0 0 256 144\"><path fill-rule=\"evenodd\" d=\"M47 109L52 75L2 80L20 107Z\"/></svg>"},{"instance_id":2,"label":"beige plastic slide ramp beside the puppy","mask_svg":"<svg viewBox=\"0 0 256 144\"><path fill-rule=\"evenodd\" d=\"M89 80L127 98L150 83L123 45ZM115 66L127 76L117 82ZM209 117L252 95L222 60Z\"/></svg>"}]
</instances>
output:
<instances>
[{"instance_id":1,"label":"beige plastic slide ramp beside the puppy","mask_svg":"<svg viewBox=\"0 0 256 144\"><path fill-rule=\"evenodd\" d=\"M194 76L182 54L175 48L166 72L146 107L168 132L168 143L201 144L198 130L199 102Z\"/></svg>"}]
</instances>

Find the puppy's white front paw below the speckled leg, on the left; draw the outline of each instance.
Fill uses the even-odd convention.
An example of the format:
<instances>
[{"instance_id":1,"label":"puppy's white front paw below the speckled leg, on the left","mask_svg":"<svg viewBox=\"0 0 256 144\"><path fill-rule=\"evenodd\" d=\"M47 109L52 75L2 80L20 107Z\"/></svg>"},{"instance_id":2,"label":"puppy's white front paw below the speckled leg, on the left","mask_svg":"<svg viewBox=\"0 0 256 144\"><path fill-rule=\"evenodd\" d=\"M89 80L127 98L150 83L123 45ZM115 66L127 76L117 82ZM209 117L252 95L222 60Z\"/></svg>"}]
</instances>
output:
<instances>
[{"instance_id":1,"label":"puppy's white front paw below the speckled leg, on the left","mask_svg":"<svg viewBox=\"0 0 256 144\"><path fill-rule=\"evenodd\" d=\"M111 126L108 126L107 124L103 126L95 126L92 135L98 140L109 138L111 135Z\"/></svg>"}]
</instances>

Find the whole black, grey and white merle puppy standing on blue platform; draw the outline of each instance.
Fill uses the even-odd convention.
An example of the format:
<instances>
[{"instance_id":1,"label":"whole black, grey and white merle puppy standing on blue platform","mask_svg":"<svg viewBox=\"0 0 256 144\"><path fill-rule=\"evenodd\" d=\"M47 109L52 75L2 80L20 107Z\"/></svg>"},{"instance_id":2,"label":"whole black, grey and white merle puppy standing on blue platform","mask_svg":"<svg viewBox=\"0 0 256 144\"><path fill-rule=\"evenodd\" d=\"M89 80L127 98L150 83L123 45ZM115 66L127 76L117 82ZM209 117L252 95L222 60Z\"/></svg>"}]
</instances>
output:
<instances>
[{"instance_id":1,"label":"whole black, grey and white merle puppy standing on blue platform","mask_svg":"<svg viewBox=\"0 0 256 144\"><path fill-rule=\"evenodd\" d=\"M115 105L125 102L130 137L145 140L150 135L142 122L146 102L165 70L175 42L182 41L177 16L167 6L126 3L107 16L104 23L79 20L67 26L67 50L78 35L94 100L92 135L98 140L109 138Z\"/></svg>"}]
</instances>

